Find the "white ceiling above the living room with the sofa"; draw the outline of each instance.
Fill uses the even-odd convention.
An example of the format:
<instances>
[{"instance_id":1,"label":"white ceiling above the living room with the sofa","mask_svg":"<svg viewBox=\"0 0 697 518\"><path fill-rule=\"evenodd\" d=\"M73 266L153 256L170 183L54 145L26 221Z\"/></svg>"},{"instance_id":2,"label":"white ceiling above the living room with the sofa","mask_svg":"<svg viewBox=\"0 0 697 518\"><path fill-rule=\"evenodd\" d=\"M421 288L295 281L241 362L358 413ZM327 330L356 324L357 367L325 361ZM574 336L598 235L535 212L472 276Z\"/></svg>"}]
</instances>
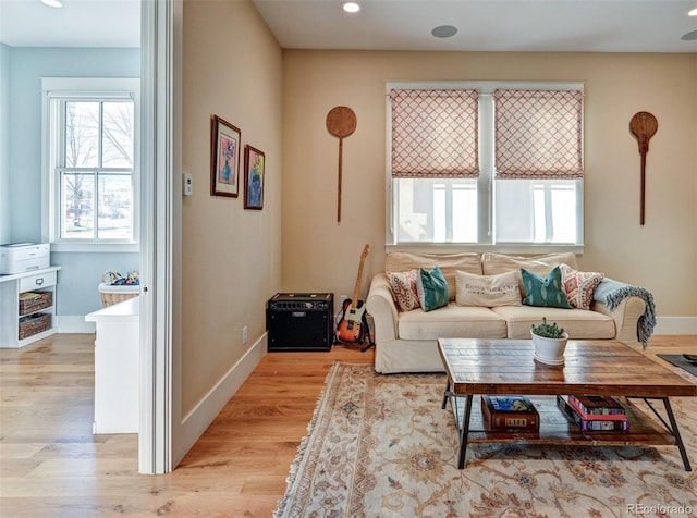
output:
<instances>
[{"instance_id":1,"label":"white ceiling above the living room with the sofa","mask_svg":"<svg viewBox=\"0 0 697 518\"><path fill-rule=\"evenodd\" d=\"M697 52L697 0L254 0L289 49ZM431 30L457 27L451 38Z\"/></svg>"}]
</instances>

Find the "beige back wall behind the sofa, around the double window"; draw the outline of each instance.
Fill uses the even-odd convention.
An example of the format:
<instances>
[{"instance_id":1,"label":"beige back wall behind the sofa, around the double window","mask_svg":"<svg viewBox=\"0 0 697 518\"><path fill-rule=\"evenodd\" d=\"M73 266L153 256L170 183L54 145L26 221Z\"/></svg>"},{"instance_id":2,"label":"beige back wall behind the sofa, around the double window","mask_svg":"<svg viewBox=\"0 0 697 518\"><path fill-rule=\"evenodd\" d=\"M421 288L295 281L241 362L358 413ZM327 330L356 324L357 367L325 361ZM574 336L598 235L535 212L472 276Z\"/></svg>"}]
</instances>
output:
<instances>
[{"instance_id":1,"label":"beige back wall behind the sofa, around the double window","mask_svg":"<svg viewBox=\"0 0 697 518\"><path fill-rule=\"evenodd\" d=\"M384 260L386 82L585 83L584 269L648 288L659 317L697 316L697 57L695 54L283 52L284 291L353 292L365 243L363 295ZM344 139L343 218L337 223L339 140L327 112L351 107ZM659 121L639 225L639 155L628 123Z\"/></svg>"}]
</instances>

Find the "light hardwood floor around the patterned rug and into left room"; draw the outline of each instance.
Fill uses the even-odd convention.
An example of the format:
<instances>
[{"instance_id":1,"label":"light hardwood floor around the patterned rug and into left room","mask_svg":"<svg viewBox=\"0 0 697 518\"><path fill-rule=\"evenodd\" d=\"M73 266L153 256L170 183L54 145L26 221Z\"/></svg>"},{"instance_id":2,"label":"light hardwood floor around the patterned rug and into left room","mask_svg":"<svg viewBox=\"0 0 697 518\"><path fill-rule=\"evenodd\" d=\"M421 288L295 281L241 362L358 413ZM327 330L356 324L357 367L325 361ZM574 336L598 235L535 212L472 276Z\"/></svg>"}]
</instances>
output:
<instances>
[{"instance_id":1,"label":"light hardwood floor around the patterned rug and into left room","mask_svg":"<svg viewBox=\"0 0 697 518\"><path fill-rule=\"evenodd\" d=\"M651 354L697 354L655 336ZM333 362L374 349L270 353L172 472L139 476L137 437L93 435L94 335L0 349L0 517L270 517ZM661 361L661 360L659 360Z\"/></svg>"}]
</instances>

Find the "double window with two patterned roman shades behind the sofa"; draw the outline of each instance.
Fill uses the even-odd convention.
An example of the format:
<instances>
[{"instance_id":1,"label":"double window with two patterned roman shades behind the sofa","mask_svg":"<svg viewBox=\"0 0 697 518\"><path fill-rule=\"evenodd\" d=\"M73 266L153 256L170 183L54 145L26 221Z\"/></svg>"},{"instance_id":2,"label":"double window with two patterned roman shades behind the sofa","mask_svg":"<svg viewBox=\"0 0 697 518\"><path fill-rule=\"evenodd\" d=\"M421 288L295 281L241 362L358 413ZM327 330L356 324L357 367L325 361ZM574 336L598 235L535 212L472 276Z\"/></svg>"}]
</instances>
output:
<instances>
[{"instance_id":1,"label":"double window with two patterned roman shades behind the sofa","mask_svg":"<svg viewBox=\"0 0 697 518\"><path fill-rule=\"evenodd\" d=\"M583 84L386 86L388 246L583 250Z\"/></svg>"}]
</instances>

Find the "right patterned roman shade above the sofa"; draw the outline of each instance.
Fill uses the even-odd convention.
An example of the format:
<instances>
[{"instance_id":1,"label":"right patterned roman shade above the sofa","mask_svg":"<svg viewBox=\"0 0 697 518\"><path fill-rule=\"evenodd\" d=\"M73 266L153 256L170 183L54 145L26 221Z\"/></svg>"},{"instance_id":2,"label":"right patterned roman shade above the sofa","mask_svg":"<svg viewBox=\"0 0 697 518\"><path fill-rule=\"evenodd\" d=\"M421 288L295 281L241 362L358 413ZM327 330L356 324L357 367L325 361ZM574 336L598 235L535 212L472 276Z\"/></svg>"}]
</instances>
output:
<instances>
[{"instance_id":1,"label":"right patterned roman shade above the sofa","mask_svg":"<svg viewBox=\"0 0 697 518\"><path fill-rule=\"evenodd\" d=\"M578 90L494 90L498 178L582 178Z\"/></svg>"}]
</instances>

